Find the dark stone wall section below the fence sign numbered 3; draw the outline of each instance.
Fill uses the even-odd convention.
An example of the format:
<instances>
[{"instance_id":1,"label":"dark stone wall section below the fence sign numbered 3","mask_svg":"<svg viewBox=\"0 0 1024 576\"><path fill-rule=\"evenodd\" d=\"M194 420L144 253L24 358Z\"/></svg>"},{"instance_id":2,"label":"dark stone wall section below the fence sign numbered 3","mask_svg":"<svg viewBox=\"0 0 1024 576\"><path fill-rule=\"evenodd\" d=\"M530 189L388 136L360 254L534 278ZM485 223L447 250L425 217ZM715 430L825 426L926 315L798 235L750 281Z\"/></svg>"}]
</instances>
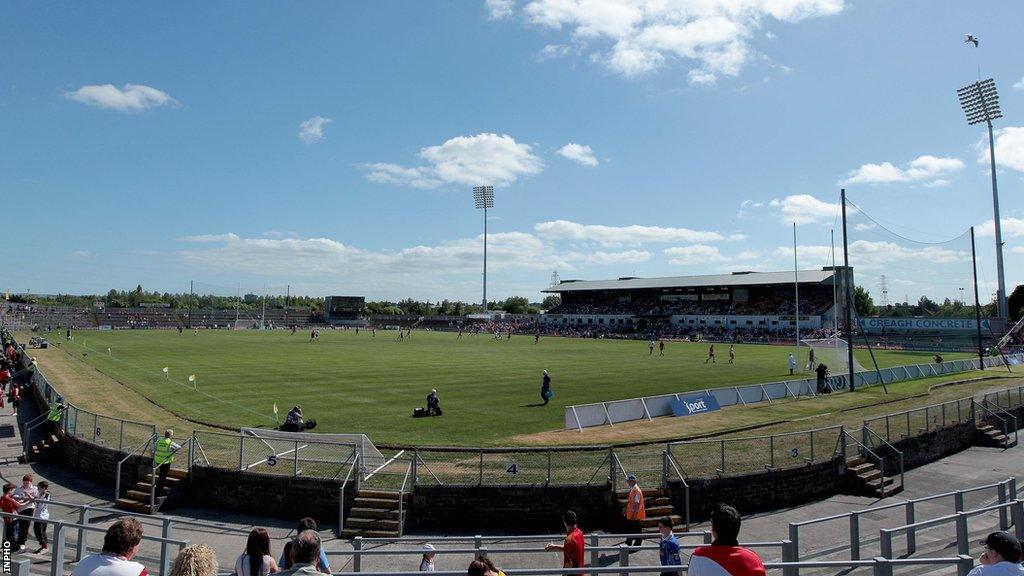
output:
<instances>
[{"instance_id":1,"label":"dark stone wall section below the fence sign numbered 3","mask_svg":"<svg viewBox=\"0 0 1024 576\"><path fill-rule=\"evenodd\" d=\"M794 468L729 475L720 478L691 478L690 520L708 520L719 502L735 507L741 515L773 510L828 497L844 486L846 465L842 457ZM686 509L682 482L670 482L672 504Z\"/></svg>"}]
</instances>

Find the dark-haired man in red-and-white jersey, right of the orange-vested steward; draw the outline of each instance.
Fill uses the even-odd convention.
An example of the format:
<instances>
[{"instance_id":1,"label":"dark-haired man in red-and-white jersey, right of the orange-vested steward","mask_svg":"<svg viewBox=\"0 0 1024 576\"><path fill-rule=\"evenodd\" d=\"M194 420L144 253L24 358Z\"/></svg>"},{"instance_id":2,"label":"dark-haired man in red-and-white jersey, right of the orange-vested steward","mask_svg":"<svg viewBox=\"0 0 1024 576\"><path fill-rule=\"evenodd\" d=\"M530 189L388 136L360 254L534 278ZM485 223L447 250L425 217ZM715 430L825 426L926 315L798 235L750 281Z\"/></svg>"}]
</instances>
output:
<instances>
[{"instance_id":1,"label":"dark-haired man in red-and-white jersey, right of the orange-vested steward","mask_svg":"<svg viewBox=\"0 0 1024 576\"><path fill-rule=\"evenodd\" d=\"M710 546L693 550L687 576L765 576L758 554L739 545L739 512L719 504L711 515Z\"/></svg>"}]
</instances>

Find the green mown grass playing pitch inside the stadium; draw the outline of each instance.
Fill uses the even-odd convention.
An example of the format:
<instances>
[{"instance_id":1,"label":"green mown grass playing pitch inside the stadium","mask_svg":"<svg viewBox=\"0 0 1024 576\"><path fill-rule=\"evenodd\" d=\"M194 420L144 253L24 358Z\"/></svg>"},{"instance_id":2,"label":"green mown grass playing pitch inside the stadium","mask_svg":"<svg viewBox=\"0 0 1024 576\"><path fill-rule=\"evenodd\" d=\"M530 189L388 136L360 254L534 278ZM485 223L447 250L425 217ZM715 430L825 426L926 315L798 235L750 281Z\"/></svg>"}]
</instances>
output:
<instances>
[{"instance_id":1,"label":"green mown grass playing pitch inside the stadium","mask_svg":"<svg viewBox=\"0 0 1024 576\"><path fill-rule=\"evenodd\" d=\"M131 390L190 420L227 426L273 425L293 405L319 431L365 433L378 443L507 445L514 436L560 429L564 406L637 396L703 389L788 378L792 347L741 344L726 364L705 364L707 345L670 342L666 356L639 340L490 336L415 332L288 331L79 332L76 341L53 334L65 352ZM108 353L110 348L110 353ZM870 366L866 351L856 351ZM967 355L944 355L946 359ZM881 367L926 363L930 354L877 352ZM162 369L168 368L168 377ZM541 404L541 371L552 375L555 397ZM46 371L46 365L43 364ZM188 375L196 382L188 382ZM437 388L440 418L412 418ZM115 403L117 399L111 399ZM146 419L145 414L123 414Z\"/></svg>"}]
</instances>

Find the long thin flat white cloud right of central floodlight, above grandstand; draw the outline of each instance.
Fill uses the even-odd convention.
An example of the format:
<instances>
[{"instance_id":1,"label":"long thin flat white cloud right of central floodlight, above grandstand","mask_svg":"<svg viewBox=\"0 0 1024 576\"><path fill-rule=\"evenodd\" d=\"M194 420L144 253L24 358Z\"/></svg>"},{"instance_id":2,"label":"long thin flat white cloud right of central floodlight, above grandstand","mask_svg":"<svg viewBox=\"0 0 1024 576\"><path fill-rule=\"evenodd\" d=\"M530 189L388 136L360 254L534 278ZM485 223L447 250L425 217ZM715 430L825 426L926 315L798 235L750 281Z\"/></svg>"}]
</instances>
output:
<instances>
[{"instance_id":1,"label":"long thin flat white cloud right of central floodlight, above grandstand","mask_svg":"<svg viewBox=\"0 0 1024 576\"><path fill-rule=\"evenodd\" d=\"M730 236L718 232L702 232L686 228L663 228L649 225L609 227L602 224L582 224L569 220L539 222L534 231L550 239L594 242L602 246L640 245L659 242L722 242L739 241L741 234Z\"/></svg>"}]
</instances>

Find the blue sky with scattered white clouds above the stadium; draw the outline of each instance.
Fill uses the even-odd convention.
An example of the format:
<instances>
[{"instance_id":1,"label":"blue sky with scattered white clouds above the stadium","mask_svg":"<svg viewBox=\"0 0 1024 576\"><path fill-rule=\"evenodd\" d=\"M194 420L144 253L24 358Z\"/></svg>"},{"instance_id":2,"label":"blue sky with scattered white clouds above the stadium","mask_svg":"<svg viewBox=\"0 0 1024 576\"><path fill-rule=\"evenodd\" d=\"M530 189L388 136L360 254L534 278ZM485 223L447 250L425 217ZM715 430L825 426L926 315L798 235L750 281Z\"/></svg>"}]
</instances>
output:
<instances>
[{"instance_id":1,"label":"blue sky with scattered white clouds above the stadium","mask_svg":"<svg viewBox=\"0 0 1024 576\"><path fill-rule=\"evenodd\" d=\"M1012 1L5 2L3 288L477 300L474 183L497 187L493 297L555 270L785 270L794 221L810 268L846 186L908 238L981 227L984 298L987 148L954 91L979 65L999 88L1012 289L1022 20ZM963 239L857 223L869 290L957 296Z\"/></svg>"}]
</instances>

